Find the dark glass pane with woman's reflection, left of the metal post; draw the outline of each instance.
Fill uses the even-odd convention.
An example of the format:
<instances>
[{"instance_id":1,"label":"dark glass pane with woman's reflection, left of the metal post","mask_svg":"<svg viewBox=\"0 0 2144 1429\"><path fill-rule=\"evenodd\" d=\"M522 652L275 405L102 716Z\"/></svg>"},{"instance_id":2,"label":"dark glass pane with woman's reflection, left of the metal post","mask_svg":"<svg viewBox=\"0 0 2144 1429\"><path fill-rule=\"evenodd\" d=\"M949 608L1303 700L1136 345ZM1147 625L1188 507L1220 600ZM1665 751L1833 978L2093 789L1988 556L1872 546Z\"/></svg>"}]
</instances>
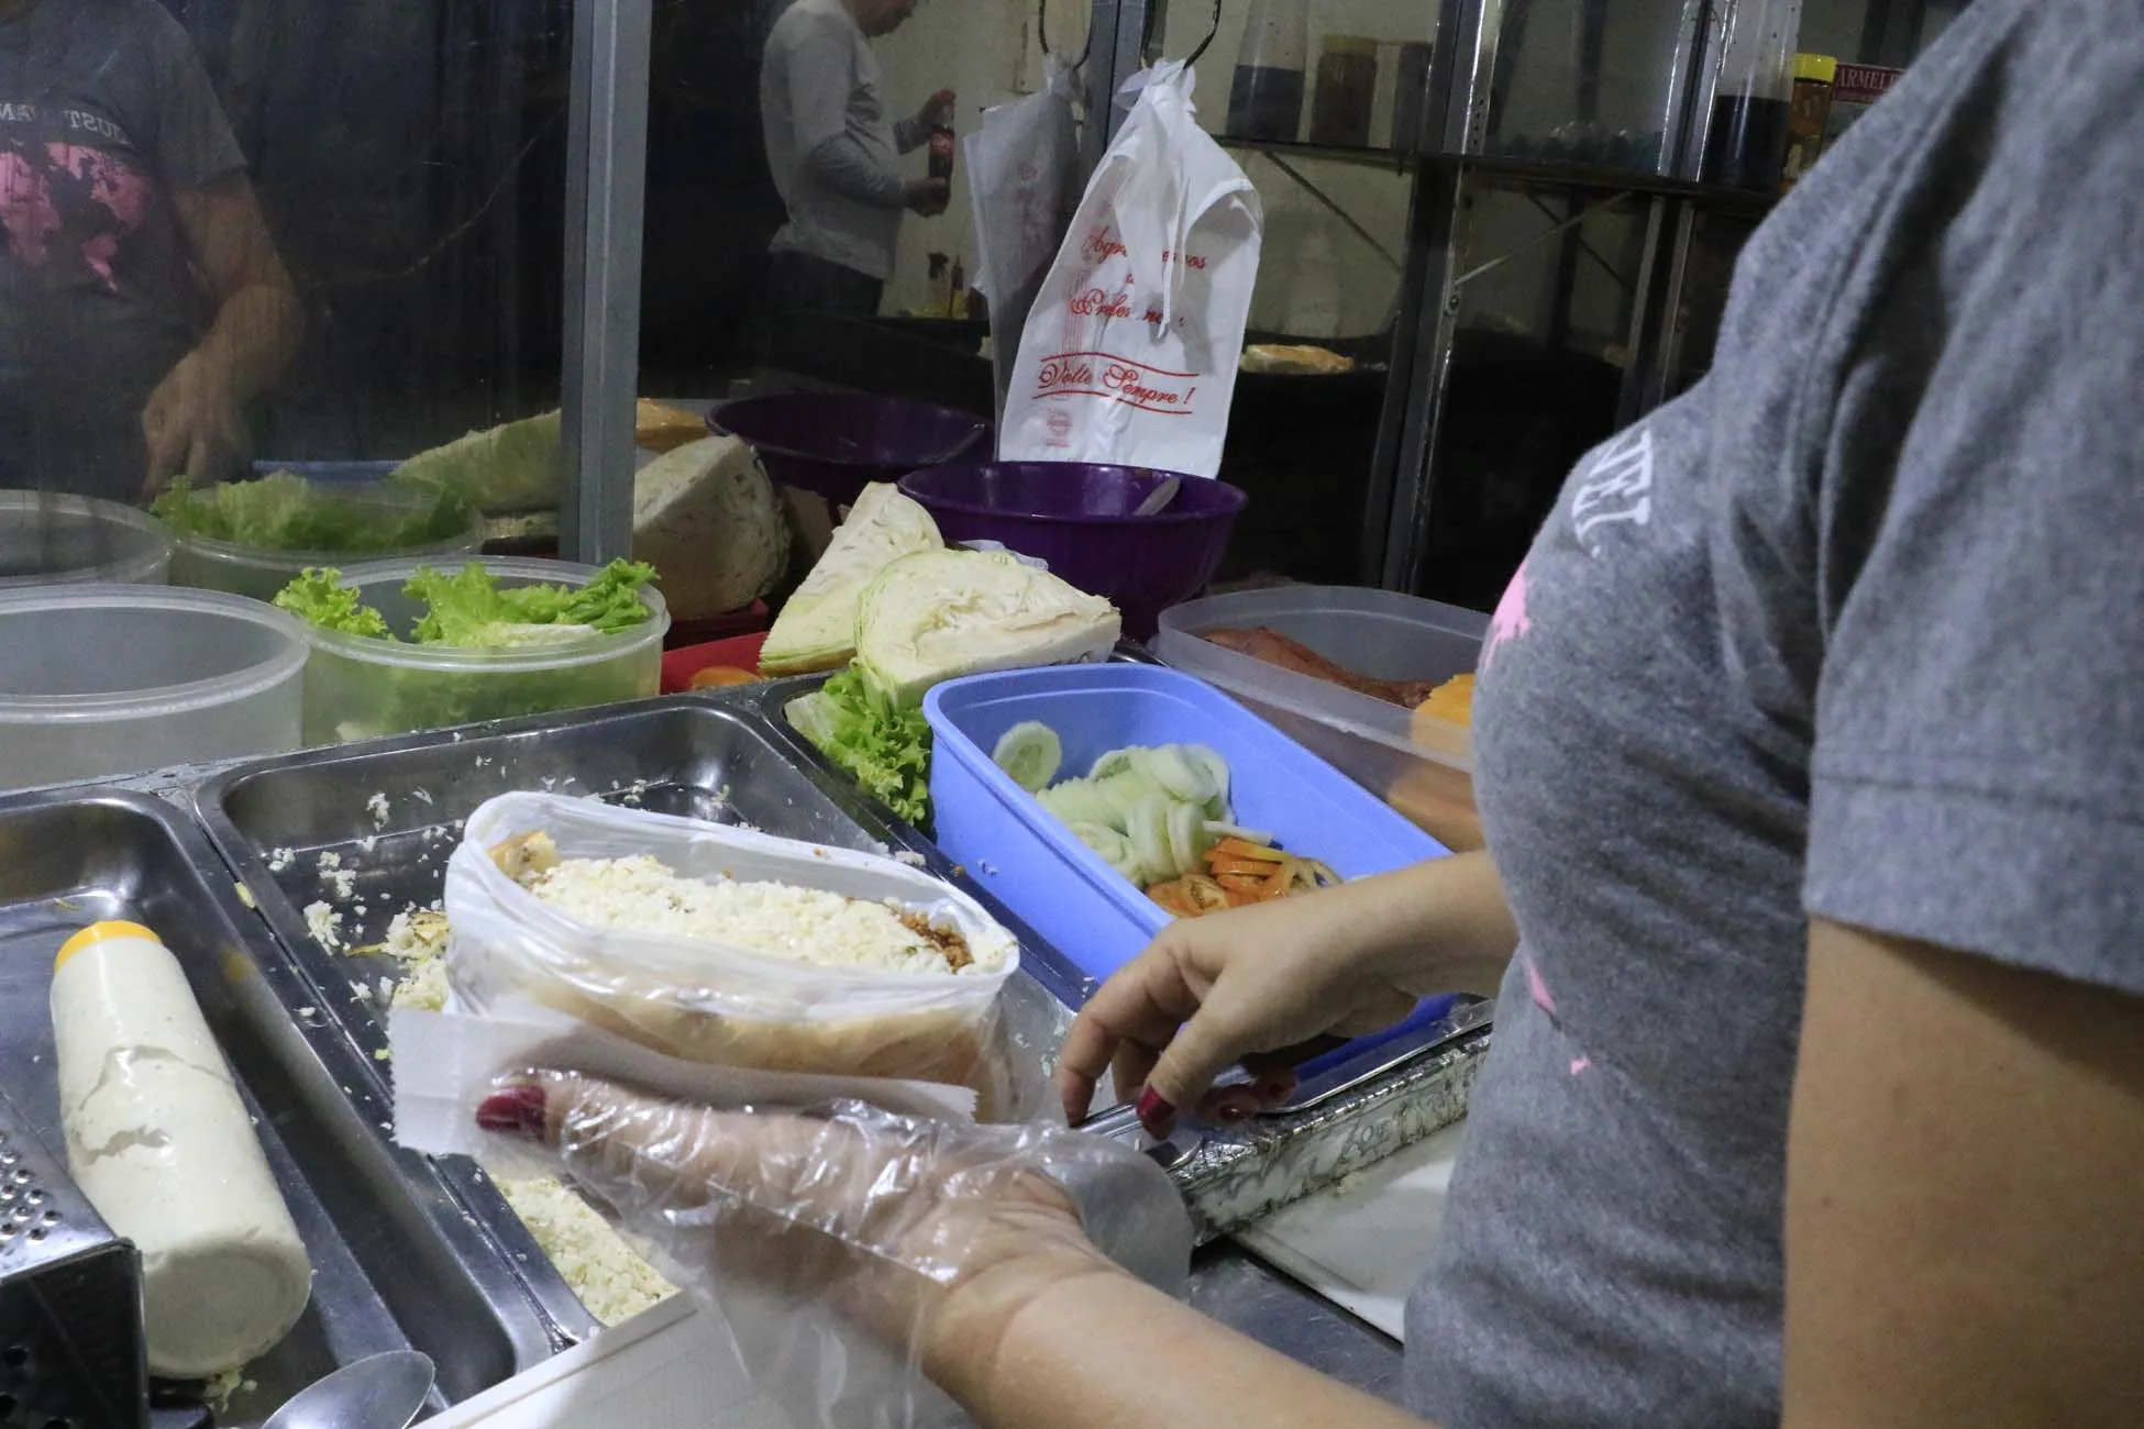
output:
<instances>
[{"instance_id":1,"label":"dark glass pane with woman's reflection, left of the metal post","mask_svg":"<svg viewBox=\"0 0 2144 1429\"><path fill-rule=\"evenodd\" d=\"M0 486L377 478L555 411L568 58L564 0L0 0ZM557 486L551 435L470 495L542 546Z\"/></svg>"}]
</instances>

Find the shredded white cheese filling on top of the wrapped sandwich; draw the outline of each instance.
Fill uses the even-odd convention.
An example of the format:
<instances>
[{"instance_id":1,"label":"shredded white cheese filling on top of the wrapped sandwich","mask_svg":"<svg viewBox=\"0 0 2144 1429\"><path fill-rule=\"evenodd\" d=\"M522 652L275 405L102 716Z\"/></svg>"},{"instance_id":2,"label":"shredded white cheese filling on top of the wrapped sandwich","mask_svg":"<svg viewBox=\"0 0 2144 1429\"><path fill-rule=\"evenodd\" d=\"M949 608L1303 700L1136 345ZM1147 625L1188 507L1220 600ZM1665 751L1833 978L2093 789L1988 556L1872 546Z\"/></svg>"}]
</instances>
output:
<instances>
[{"instance_id":1,"label":"shredded white cheese filling on top of the wrapped sandwich","mask_svg":"<svg viewBox=\"0 0 2144 1429\"><path fill-rule=\"evenodd\" d=\"M729 943L819 966L898 973L952 971L946 947L900 917L900 906L823 889L733 878L682 878L660 859L564 859L532 872L523 887L560 913L596 928ZM961 971L991 973L1006 949L969 949ZM988 960L988 962L986 962Z\"/></svg>"}]
</instances>

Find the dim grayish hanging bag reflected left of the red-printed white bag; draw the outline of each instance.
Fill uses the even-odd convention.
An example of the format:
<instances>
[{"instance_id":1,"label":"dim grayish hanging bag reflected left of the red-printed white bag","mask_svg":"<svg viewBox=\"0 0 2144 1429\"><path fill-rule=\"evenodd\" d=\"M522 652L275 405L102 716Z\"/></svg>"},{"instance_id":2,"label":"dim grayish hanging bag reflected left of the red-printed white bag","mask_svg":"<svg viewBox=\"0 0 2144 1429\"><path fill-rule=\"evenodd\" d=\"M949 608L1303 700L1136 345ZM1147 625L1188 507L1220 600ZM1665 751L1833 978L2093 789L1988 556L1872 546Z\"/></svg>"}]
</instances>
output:
<instances>
[{"instance_id":1,"label":"dim grayish hanging bag reflected left of the red-printed white bag","mask_svg":"<svg viewBox=\"0 0 2144 1429\"><path fill-rule=\"evenodd\" d=\"M961 139L976 201L976 287L991 300L991 366L997 420L1021 356L1021 330L1078 204L1078 122L1072 69L1044 60L1042 92L984 109Z\"/></svg>"}]
</instances>

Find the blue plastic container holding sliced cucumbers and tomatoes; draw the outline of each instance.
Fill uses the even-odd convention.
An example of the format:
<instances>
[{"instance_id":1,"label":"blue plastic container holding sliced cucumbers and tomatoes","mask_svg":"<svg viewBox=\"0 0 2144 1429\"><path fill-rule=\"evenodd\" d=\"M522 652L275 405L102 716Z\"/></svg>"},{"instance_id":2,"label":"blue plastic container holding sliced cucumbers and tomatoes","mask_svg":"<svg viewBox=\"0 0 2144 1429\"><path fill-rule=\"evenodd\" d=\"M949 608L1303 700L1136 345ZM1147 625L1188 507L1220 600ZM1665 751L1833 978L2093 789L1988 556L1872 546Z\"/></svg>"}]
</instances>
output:
<instances>
[{"instance_id":1,"label":"blue plastic container holding sliced cucumbers and tomatoes","mask_svg":"<svg viewBox=\"0 0 2144 1429\"><path fill-rule=\"evenodd\" d=\"M1233 698L1143 664L1076 664L954 679L924 696L935 838L956 863L1091 977L1130 962L1168 915L991 763L997 739L1040 720L1063 776L1123 746L1205 743L1229 761L1235 818L1342 878L1383 874L1445 846Z\"/></svg>"}]
</instances>

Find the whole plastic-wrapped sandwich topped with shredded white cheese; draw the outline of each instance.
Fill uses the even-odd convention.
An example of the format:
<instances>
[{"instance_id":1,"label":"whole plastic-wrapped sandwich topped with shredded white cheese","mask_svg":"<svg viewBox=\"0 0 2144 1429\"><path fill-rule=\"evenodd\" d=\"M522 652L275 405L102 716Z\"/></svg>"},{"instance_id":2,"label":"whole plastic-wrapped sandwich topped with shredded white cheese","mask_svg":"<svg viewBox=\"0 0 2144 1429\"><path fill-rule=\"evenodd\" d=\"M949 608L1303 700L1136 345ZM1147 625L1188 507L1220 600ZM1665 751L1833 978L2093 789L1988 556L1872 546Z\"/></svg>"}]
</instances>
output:
<instances>
[{"instance_id":1,"label":"whole plastic-wrapped sandwich topped with shredded white cheese","mask_svg":"<svg viewBox=\"0 0 2144 1429\"><path fill-rule=\"evenodd\" d=\"M587 799L480 806L446 872L461 1009L547 1009L667 1058L1042 1101L999 992L1018 943L930 874Z\"/></svg>"}]
</instances>

